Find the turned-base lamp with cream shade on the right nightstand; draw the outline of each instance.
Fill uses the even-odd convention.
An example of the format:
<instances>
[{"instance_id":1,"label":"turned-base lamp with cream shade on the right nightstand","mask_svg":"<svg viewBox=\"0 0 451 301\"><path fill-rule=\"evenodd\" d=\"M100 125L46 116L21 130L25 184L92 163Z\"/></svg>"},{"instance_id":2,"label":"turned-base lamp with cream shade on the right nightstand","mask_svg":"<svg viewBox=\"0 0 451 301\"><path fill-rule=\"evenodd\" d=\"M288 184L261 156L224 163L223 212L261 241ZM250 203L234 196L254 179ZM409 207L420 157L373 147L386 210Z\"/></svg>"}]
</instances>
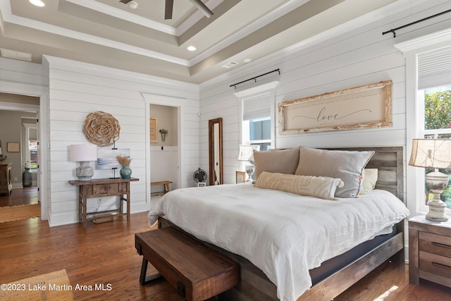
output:
<instances>
[{"instance_id":1,"label":"turned-base lamp with cream shade on the right nightstand","mask_svg":"<svg viewBox=\"0 0 451 301\"><path fill-rule=\"evenodd\" d=\"M451 140L413 139L409 165L435 168L435 171L426 175L426 185L434 195L428 202L429 212L426 219L447 221L446 204L440 199L440 193L447 188L449 178L445 173L440 173L438 168L451 168Z\"/></svg>"}]
</instances>

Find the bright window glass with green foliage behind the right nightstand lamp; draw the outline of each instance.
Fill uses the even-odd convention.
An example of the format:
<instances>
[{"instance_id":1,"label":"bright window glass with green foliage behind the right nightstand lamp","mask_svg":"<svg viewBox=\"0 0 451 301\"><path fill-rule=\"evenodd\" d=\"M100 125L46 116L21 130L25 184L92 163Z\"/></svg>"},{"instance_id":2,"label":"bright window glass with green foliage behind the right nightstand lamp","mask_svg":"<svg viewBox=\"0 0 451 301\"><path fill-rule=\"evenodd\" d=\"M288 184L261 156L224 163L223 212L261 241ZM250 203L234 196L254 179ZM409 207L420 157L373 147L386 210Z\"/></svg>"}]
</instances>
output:
<instances>
[{"instance_id":1,"label":"bright window glass with green foliage behind the right nightstand lamp","mask_svg":"<svg viewBox=\"0 0 451 301\"><path fill-rule=\"evenodd\" d=\"M421 113L421 130L419 137L451 139L451 85L419 90L418 95ZM426 169L430 173L432 169ZM451 178L451 169L440 169L442 173ZM433 194L428 191L426 183L425 204L433 199ZM440 199L451 209L451 180L448 188L440 195Z\"/></svg>"}]
</instances>

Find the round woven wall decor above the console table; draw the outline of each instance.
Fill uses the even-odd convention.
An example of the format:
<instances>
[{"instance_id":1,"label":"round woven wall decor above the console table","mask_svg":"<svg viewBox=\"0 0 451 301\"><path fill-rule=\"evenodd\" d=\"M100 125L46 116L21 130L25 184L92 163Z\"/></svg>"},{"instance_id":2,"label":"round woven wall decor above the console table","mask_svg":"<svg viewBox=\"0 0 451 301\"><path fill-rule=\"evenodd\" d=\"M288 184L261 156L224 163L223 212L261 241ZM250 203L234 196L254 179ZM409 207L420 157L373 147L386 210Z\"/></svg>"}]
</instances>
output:
<instances>
[{"instance_id":1,"label":"round woven wall decor above the console table","mask_svg":"<svg viewBox=\"0 0 451 301\"><path fill-rule=\"evenodd\" d=\"M119 139L121 125L111 114L102 111L89 113L83 124L83 134L87 140L99 147L113 145Z\"/></svg>"}]
</instances>

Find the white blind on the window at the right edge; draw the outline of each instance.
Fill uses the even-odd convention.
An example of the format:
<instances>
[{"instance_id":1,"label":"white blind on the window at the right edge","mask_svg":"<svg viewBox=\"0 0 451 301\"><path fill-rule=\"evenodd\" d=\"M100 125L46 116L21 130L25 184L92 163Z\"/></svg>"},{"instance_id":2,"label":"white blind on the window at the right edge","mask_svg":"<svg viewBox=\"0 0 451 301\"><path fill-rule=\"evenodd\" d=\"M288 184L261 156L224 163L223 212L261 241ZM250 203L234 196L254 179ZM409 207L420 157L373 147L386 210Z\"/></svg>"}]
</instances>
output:
<instances>
[{"instance_id":1,"label":"white blind on the window at the right edge","mask_svg":"<svg viewBox=\"0 0 451 301\"><path fill-rule=\"evenodd\" d=\"M418 89L451 85L451 47L419 54Z\"/></svg>"}]
</instances>

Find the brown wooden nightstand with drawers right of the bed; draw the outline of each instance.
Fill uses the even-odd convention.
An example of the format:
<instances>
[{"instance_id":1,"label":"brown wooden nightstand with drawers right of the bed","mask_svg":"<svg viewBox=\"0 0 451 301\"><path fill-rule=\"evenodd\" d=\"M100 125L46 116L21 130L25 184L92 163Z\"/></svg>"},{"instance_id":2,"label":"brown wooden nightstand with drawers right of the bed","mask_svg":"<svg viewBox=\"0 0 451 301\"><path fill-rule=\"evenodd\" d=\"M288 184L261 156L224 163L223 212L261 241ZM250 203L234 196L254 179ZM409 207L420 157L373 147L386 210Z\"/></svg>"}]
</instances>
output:
<instances>
[{"instance_id":1,"label":"brown wooden nightstand with drawers right of the bed","mask_svg":"<svg viewBox=\"0 0 451 301\"><path fill-rule=\"evenodd\" d=\"M409 282L419 278L451 288L451 220L409 219Z\"/></svg>"}]
</instances>

